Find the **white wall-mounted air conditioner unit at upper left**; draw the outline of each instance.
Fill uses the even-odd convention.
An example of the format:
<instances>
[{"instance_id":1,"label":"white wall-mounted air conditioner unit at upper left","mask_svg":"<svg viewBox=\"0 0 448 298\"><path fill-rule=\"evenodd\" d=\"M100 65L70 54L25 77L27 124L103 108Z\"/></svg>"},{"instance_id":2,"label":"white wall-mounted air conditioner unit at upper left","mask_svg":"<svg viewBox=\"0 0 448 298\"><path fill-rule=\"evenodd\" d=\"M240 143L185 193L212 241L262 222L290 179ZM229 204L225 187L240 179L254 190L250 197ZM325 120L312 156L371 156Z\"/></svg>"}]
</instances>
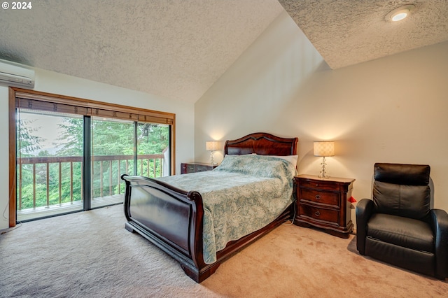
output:
<instances>
[{"instance_id":1,"label":"white wall-mounted air conditioner unit at upper left","mask_svg":"<svg viewBox=\"0 0 448 298\"><path fill-rule=\"evenodd\" d=\"M0 84L34 88L34 69L26 65L0 59Z\"/></svg>"}]
</instances>

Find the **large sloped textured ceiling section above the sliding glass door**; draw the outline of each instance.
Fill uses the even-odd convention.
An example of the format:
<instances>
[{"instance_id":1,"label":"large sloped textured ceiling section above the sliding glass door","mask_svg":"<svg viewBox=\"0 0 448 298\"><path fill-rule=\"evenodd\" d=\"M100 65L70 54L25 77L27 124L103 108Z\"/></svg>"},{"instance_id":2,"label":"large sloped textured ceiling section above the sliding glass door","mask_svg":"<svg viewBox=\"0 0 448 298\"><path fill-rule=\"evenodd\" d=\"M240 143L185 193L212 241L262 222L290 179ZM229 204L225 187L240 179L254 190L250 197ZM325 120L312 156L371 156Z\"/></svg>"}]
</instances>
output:
<instances>
[{"instance_id":1,"label":"large sloped textured ceiling section above the sliding glass door","mask_svg":"<svg viewBox=\"0 0 448 298\"><path fill-rule=\"evenodd\" d=\"M195 102L283 11L276 0L38 0L0 10L0 58Z\"/></svg>"}]
</instances>

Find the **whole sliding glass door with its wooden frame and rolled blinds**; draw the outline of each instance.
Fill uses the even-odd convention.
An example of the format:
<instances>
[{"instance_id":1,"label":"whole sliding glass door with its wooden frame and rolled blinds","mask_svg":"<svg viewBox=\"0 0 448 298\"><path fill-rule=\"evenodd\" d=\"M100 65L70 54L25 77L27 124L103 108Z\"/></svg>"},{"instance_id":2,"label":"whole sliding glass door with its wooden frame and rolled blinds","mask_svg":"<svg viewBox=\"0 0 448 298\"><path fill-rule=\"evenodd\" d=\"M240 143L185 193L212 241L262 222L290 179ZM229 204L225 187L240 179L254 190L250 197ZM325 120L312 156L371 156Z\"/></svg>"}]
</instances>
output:
<instances>
[{"instance_id":1,"label":"whole sliding glass door with its wooden frame and rolled blinds","mask_svg":"<svg viewBox=\"0 0 448 298\"><path fill-rule=\"evenodd\" d=\"M174 173L172 113L17 88L9 106L10 226L120 204L124 173Z\"/></svg>"}]
</instances>

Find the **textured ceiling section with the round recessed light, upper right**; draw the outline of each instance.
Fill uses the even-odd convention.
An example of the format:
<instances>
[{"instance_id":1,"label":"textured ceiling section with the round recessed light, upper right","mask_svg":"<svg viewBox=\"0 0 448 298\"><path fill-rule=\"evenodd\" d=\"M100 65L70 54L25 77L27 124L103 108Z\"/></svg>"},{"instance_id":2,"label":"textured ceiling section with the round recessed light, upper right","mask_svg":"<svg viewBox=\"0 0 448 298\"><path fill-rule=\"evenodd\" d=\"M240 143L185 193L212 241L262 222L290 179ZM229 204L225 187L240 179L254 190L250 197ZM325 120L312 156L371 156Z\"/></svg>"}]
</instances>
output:
<instances>
[{"instance_id":1,"label":"textured ceiling section with the round recessed light, upper right","mask_svg":"<svg viewBox=\"0 0 448 298\"><path fill-rule=\"evenodd\" d=\"M332 69L448 41L447 0L279 0ZM405 20L385 19L405 4Z\"/></svg>"}]
</instances>

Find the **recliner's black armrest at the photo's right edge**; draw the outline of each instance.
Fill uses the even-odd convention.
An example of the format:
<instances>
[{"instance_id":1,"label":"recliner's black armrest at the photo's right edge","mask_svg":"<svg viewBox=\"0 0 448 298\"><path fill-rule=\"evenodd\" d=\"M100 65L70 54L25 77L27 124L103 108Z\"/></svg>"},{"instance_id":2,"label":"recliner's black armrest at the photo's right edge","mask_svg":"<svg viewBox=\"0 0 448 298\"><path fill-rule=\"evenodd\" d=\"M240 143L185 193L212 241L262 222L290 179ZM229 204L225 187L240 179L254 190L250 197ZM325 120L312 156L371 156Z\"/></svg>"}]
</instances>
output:
<instances>
[{"instance_id":1,"label":"recliner's black armrest at the photo's right edge","mask_svg":"<svg viewBox=\"0 0 448 298\"><path fill-rule=\"evenodd\" d=\"M448 277L448 214L442 209L431 209L431 227L435 236L435 277Z\"/></svg>"}]
</instances>

